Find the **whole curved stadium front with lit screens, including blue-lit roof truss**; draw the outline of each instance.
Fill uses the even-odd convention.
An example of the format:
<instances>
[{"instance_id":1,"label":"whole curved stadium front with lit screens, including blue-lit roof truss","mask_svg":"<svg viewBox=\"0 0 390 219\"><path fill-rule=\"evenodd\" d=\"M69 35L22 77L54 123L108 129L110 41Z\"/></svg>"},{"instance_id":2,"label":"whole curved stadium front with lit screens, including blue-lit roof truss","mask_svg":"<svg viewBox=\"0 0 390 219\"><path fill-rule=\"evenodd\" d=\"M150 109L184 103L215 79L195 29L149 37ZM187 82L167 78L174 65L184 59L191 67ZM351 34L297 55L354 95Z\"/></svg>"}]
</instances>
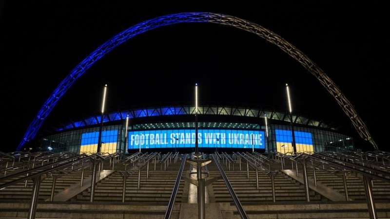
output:
<instances>
[{"instance_id":1,"label":"whole curved stadium front with lit screens, including blue-lit roof truss","mask_svg":"<svg viewBox=\"0 0 390 219\"><path fill-rule=\"evenodd\" d=\"M204 150L232 148L292 152L289 113L245 107L198 108L198 143ZM102 153L141 149L188 150L195 147L195 107L170 106L125 110L103 117ZM126 117L129 117L128 137ZM267 117L266 120L264 117ZM71 122L42 138L43 149L94 153L98 147L101 116ZM352 149L353 139L334 126L302 115L293 115L297 152ZM268 137L267 137L268 130Z\"/></svg>"}]
</instances>

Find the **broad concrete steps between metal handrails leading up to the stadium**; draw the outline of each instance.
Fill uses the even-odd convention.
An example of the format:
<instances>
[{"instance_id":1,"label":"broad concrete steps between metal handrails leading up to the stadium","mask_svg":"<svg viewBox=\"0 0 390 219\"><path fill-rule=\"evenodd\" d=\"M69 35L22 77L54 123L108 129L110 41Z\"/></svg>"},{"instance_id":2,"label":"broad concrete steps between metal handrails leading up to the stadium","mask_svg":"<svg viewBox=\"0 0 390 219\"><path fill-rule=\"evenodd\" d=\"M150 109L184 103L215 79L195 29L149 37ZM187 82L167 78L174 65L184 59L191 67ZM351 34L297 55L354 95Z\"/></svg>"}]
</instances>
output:
<instances>
[{"instance_id":1,"label":"broad concrete steps between metal handrails leading up to the stadium","mask_svg":"<svg viewBox=\"0 0 390 219\"><path fill-rule=\"evenodd\" d=\"M140 189L137 189L137 172L127 178L126 199L122 203L124 170L121 163L115 164L116 172L97 183L95 200L90 202L90 189L80 192L66 202L45 201L50 198L52 178L45 179L39 190L37 218L56 219L160 219L163 218L181 161L176 164L172 160L169 167L160 169L160 164L151 162L149 177L146 179L146 168L141 171ZM361 179L355 175L348 175L348 189L354 201L329 201L320 194L311 190L311 202L306 202L305 191L299 183L279 172L275 178L276 202L273 202L271 179L259 172L259 189L256 188L255 171L250 169L247 178L246 163L242 162L242 170L238 164L231 166L231 170L222 164L225 173L251 219L341 219L341 218L369 218L365 191ZM273 169L280 169L280 163L274 163ZM109 162L104 163L104 169L111 169ZM132 166L127 167L132 168ZM286 165L285 168L291 168ZM301 167L299 167L301 168ZM183 176L190 170L186 164ZM213 163L207 165L210 177L219 177L220 173ZM300 172L302 174L302 172ZM91 175L86 169L84 178ZM308 168L309 177L312 169ZM343 180L326 171L316 171L317 181L334 190L344 193ZM74 171L57 179L56 193L72 184L79 183L81 171ZM0 219L26 218L31 199L32 182L18 183L0 191ZM390 218L390 185L374 181L374 199L379 218ZM240 218L233 204L231 196L223 180L218 180L207 187L208 201L206 217L215 219ZM197 204L187 203L189 197L189 183L180 181L179 191L172 219L197 219Z\"/></svg>"}]
</instances>

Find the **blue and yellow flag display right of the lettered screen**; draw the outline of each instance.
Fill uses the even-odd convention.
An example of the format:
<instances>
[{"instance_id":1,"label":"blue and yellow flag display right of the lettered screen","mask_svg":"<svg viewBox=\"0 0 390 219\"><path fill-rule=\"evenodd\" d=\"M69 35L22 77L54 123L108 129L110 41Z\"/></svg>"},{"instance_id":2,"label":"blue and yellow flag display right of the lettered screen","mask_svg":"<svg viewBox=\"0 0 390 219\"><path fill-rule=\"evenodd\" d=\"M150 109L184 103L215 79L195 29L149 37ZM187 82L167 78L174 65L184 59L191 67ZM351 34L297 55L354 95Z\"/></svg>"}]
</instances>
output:
<instances>
[{"instance_id":1,"label":"blue and yellow flag display right of the lettered screen","mask_svg":"<svg viewBox=\"0 0 390 219\"><path fill-rule=\"evenodd\" d=\"M277 152L286 154L292 153L292 135L290 130L281 130L276 129L276 150ZM297 153L314 153L313 141L312 141L312 133L310 132L302 132L302 131L294 131L295 135L295 146Z\"/></svg>"}]
</instances>

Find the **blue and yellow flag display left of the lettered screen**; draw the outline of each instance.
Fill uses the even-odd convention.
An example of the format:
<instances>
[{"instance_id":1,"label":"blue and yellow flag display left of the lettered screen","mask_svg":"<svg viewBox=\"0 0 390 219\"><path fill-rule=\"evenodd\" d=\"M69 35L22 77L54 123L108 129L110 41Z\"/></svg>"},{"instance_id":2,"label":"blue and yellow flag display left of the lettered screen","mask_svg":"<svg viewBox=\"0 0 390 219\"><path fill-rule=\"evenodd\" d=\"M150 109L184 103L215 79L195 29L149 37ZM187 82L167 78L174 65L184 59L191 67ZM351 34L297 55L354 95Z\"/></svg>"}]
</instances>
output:
<instances>
[{"instance_id":1,"label":"blue and yellow flag display left of the lettered screen","mask_svg":"<svg viewBox=\"0 0 390 219\"><path fill-rule=\"evenodd\" d=\"M80 154L96 153L98 151L99 132L86 132L81 134ZM101 132L101 153L115 153L117 151L117 130Z\"/></svg>"}]
</instances>

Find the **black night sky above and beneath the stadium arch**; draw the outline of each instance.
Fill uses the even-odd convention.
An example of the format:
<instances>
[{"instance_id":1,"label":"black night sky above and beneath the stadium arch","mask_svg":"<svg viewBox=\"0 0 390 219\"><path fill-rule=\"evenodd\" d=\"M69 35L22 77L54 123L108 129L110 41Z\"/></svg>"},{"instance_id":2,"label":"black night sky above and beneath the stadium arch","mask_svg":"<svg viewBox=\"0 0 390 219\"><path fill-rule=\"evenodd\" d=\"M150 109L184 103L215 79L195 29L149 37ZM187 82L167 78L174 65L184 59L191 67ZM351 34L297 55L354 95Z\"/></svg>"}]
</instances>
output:
<instances>
[{"instance_id":1,"label":"black night sky above and beneath the stadium arch","mask_svg":"<svg viewBox=\"0 0 390 219\"><path fill-rule=\"evenodd\" d=\"M223 13L260 24L316 62L341 88L386 150L383 125L389 63L388 13L370 1L251 5L136 5L133 1L2 1L0 27L4 150L12 150L59 82L118 32L146 19L191 11ZM276 46L216 24L179 24L130 39L99 60L59 101L42 127L98 114L101 86L108 111L166 104L233 104L286 109L332 120L356 136L351 122L319 82ZM2 148L0 150L3 150Z\"/></svg>"}]
</instances>

